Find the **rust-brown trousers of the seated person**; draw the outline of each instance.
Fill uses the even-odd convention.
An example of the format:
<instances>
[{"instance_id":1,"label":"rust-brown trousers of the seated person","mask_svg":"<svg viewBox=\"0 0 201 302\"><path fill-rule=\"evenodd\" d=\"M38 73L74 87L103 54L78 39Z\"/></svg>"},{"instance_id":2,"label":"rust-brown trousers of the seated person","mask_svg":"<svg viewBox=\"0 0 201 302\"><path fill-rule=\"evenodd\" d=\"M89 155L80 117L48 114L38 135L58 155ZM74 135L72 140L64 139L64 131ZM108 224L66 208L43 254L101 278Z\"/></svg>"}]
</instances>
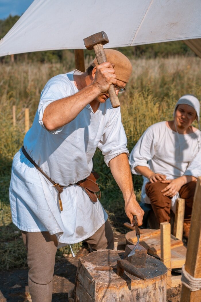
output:
<instances>
[{"instance_id":1,"label":"rust-brown trousers of the seated person","mask_svg":"<svg viewBox=\"0 0 201 302\"><path fill-rule=\"evenodd\" d=\"M163 184L160 181L146 184L145 190L149 197L154 211L155 217L158 223L170 221L170 210L171 210L171 197L163 196L161 190L163 190L168 184ZM193 196L195 192L196 181L192 181L183 185L179 191L181 198L185 199L185 214L184 222L190 222Z\"/></svg>"}]
</instances>

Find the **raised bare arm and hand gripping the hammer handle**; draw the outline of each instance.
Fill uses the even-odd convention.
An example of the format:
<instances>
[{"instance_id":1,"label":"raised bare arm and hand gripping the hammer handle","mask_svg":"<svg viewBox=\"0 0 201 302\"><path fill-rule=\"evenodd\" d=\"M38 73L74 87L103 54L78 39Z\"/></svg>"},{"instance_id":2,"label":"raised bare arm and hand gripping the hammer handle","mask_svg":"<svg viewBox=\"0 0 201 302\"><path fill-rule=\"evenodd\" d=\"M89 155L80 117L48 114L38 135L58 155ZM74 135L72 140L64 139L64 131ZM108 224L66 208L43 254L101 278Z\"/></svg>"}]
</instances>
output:
<instances>
[{"instance_id":1,"label":"raised bare arm and hand gripping the hammer handle","mask_svg":"<svg viewBox=\"0 0 201 302\"><path fill-rule=\"evenodd\" d=\"M86 76L88 86L74 95L50 103L43 114L44 126L53 131L70 123L100 93L107 92L110 85L117 81L113 66L109 62L102 63L93 69L92 79Z\"/></svg>"}]
</instances>

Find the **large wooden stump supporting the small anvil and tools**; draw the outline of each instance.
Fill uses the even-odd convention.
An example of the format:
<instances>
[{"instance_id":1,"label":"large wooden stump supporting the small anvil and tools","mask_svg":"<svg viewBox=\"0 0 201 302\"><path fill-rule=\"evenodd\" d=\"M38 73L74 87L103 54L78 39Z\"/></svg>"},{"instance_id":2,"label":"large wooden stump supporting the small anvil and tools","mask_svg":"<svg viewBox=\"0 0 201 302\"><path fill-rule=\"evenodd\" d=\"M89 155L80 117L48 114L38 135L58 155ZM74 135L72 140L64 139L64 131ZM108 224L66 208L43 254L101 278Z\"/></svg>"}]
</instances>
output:
<instances>
[{"instance_id":1,"label":"large wooden stump supporting the small anvil and tools","mask_svg":"<svg viewBox=\"0 0 201 302\"><path fill-rule=\"evenodd\" d=\"M158 259L147 255L139 268L147 280L124 271L118 277L114 266L124 259L124 251L101 250L80 258L75 282L75 302L166 302L167 269ZM94 270L112 266L113 270Z\"/></svg>"}]
</instances>

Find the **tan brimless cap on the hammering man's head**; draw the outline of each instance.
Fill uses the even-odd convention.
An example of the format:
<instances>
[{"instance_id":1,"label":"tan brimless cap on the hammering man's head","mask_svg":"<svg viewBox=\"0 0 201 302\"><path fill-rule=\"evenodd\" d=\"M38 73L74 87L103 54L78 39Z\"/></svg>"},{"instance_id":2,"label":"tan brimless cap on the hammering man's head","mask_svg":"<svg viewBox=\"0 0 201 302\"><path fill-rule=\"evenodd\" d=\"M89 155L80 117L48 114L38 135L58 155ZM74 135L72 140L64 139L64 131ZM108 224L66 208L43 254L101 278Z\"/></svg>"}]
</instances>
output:
<instances>
[{"instance_id":1,"label":"tan brimless cap on the hammering man's head","mask_svg":"<svg viewBox=\"0 0 201 302\"><path fill-rule=\"evenodd\" d=\"M132 65L129 59L123 53L114 49L105 49L105 55L108 62L115 64L114 69L117 79L127 83L132 72ZM96 58L91 65L94 67L98 65Z\"/></svg>"}]
</instances>

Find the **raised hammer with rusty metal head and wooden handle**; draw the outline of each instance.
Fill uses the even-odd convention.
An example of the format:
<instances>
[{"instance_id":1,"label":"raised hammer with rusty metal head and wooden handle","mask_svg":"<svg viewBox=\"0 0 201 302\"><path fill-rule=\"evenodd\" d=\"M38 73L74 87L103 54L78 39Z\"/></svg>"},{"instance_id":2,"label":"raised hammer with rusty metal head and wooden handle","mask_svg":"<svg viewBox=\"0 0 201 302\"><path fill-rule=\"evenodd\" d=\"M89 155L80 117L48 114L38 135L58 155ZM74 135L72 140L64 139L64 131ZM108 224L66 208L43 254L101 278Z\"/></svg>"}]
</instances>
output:
<instances>
[{"instance_id":1,"label":"raised hammer with rusty metal head and wooden handle","mask_svg":"<svg viewBox=\"0 0 201 302\"><path fill-rule=\"evenodd\" d=\"M105 34L104 31L101 31L97 34L93 34L92 36L89 36L84 39L84 45L85 45L86 49L89 49L89 50L94 49L98 64L107 62L107 58L105 56L105 51L104 51L103 45L108 42L109 42L108 36ZM110 85L108 92L109 92L112 107L113 108L119 107L120 103L119 103L118 96L116 95L114 85Z\"/></svg>"}]
</instances>

